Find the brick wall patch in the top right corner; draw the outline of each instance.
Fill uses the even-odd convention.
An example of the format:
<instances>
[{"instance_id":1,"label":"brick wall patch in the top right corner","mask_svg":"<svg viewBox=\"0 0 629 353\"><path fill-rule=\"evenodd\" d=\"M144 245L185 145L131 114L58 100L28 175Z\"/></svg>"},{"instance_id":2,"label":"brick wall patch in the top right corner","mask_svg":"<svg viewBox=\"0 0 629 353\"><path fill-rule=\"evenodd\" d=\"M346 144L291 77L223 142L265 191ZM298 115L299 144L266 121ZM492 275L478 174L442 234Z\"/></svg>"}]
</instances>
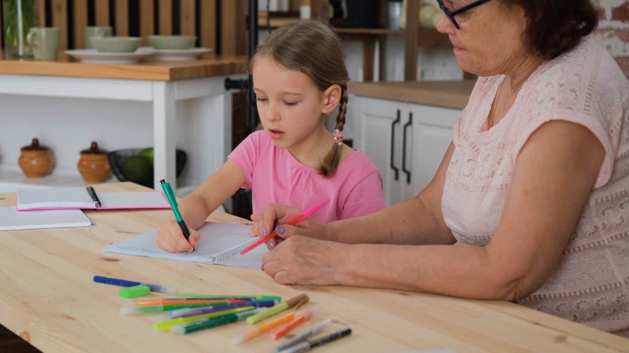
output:
<instances>
[{"instance_id":1,"label":"brick wall patch in the top right corner","mask_svg":"<svg viewBox=\"0 0 629 353\"><path fill-rule=\"evenodd\" d=\"M602 9L601 19L594 36L616 58L616 62L629 77L629 1L594 0Z\"/></svg>"}]
</instances>

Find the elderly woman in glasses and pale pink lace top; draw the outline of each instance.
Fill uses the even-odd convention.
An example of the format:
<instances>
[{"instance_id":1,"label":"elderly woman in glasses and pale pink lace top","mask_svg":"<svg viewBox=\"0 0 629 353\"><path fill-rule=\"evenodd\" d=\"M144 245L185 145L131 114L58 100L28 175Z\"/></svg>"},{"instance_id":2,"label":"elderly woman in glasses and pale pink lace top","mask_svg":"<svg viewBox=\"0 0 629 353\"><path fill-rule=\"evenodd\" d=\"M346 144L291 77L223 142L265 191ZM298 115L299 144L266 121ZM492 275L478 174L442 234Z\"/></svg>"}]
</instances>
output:
<instances>
[{"instance_id":1,"label":"elderly woman in glasses and pale pink lace top","mask_svg":"<svg viewBox=\"0 0 629 353\"><path fill-rule=\"evenodd\" d=\"M593 5L439 3L437 29L480 78L430 185L328 225L283 225L299 210L269 205L252 230L279 224L264 271L515 301L629 337L629 82L586 37Z\"/></svg>"}]
</instances>

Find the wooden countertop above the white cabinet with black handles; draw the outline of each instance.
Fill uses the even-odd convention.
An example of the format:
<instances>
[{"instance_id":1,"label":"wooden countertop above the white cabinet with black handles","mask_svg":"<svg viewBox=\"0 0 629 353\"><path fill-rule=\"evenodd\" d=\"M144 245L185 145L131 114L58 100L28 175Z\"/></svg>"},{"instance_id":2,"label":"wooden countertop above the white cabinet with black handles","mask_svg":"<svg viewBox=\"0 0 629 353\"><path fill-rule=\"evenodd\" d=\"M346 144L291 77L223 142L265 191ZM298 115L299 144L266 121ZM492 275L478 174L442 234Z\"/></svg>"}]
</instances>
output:
<instances>
[{"instance_id":1,"label":"wooden countertop above the white cabinet with black handles","mask_svg":"<svg viewBox=\"0 0 629 353\"><path fill-rule=\"evenodd\" d=\"M350 82L348 91L365 97L463 109L474 84L476 80Z\"/></svg>"}]
</instances>

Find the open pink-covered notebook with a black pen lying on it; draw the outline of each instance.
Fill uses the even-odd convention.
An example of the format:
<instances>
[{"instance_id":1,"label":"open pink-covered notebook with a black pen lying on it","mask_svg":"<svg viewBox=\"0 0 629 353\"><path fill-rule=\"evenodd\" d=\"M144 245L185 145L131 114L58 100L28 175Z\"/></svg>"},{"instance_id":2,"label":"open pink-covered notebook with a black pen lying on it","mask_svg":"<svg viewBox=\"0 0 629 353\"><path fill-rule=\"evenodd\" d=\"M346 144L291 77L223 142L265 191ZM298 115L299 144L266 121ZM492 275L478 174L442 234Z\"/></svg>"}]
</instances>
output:
<instances>
[{"instance_id":1,"label":"open pink-covered notebook with a black pen lying on it","mask_svg":"<svg viewBox=\"0 0 629 353\"><path fill-rule=\"evenodd\" d=\"M92 187L20 189L16 208L48 209L169 209L159 192L99 192Z\"/></svg>"}]
</instances>

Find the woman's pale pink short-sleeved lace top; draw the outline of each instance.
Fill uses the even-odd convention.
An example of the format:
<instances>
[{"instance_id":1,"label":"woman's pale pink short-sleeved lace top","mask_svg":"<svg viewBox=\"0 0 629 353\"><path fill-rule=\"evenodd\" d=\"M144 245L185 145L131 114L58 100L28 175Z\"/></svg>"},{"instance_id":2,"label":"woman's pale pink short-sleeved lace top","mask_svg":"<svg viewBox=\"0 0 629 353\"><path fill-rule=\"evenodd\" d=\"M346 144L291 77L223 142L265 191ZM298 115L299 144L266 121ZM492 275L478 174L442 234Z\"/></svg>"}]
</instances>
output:
<instances>
[{"instance_id":1,"label":"woman's pale pink short-sleeved lace top","mask_svg":"<svg viewBox=\"0 0 629 353\"><path fill-rule=\"evenodd\" d=\"M503 79L481 77L455 124L445 222L457 244L486 246L533 131L557 119L586 126L606 153L598 180L557 268L520 304L629 337L629 82L608 52L586 38L537 68L508 114L487 130Z\"/></svg>"}]
</instances>

